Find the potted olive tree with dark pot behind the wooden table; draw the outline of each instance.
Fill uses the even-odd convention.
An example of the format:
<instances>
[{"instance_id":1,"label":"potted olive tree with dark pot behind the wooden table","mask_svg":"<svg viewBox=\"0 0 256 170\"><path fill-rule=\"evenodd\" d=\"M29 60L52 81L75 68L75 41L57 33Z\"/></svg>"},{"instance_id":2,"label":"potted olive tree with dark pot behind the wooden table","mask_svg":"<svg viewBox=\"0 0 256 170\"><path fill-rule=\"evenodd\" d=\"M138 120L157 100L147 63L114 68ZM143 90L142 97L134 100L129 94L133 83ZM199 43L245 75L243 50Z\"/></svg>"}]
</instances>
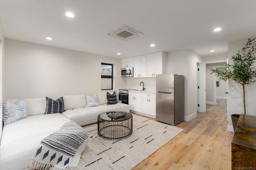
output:
<instances>
[{"instance_id":1,"label":"potted olive tree with dark pot behind the wooden table","mask_svg":"<svg viewBox=\"0 0 256 170\"><path fill-rule=\"evenodd\" d=\"M249 86L256 80L256 69L254 62L256 59L256 41L254 39L248 39L244 47L231 57L233 64L225 64L227 68L225 70L210 69L211 74L215 74L220 80L241 84L243 88L244 99L244 114L246 115L246 102L245 102L245 85ZM239 115L231 115L234 131Z\"/></svg>"}]
</instances>

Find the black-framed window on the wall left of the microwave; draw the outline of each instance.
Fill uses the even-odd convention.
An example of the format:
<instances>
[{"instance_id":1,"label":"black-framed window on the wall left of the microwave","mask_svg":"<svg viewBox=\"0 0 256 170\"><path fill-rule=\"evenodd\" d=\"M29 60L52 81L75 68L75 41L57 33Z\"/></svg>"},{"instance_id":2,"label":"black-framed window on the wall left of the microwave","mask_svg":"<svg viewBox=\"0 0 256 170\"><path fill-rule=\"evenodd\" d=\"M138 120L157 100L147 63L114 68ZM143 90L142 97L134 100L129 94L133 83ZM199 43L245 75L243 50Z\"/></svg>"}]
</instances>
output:
<instances>
[{"instance_id":1,"label":"black-framed window on the wall left of the microwave","mask_svg":"<svg viewBox=\"0 0 256 170\"><path fill-rule=\"evenodd\" d=\"M113 90L113 64L101 63L101 90Z\"/></svg>"}]
</instances>

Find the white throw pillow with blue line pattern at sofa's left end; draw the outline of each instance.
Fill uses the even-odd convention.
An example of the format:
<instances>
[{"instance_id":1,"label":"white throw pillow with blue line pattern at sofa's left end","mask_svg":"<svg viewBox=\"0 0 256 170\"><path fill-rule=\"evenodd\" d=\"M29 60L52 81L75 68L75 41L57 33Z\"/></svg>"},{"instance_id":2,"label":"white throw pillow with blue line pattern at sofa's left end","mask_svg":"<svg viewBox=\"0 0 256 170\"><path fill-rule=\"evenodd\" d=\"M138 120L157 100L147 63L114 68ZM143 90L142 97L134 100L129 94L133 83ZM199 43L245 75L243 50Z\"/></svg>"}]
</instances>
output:
<instances>
[{"instance_id":1,"label":"white throw pillow with blue line pattern at sofa's left end","mask_svg":"<svg viewBox=\"0 0 256 170\"><path fill-rule=\"evenodd\" d=\"M28 117L28 106L24 98L20 98L14 103L4 100L3 107L4 107L4 115L3 115L4 125L7 125L14 121L18 121L20 119Z\"/></svg>"}]
</instances>

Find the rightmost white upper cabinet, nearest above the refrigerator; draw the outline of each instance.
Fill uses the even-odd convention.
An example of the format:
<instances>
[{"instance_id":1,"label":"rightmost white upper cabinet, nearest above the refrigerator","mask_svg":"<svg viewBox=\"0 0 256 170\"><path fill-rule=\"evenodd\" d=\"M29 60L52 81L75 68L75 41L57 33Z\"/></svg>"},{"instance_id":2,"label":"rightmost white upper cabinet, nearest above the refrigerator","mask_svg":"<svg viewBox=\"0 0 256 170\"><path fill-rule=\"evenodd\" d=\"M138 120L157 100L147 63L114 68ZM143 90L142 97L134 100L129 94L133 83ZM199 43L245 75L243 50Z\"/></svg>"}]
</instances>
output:
<instances>
[{"instance_id":1,"label":"rightmost white upper cabinet, nearest above the refrigerator","mask_svg":"<svg viewBox=\"0 0 256 170\"><path fill-rule=\"evenodd\" d=\"M164 74L166 72L167 54L158 52L146 55L146 77L156 77L156 74Z\"/></svg>"}]
</instances>

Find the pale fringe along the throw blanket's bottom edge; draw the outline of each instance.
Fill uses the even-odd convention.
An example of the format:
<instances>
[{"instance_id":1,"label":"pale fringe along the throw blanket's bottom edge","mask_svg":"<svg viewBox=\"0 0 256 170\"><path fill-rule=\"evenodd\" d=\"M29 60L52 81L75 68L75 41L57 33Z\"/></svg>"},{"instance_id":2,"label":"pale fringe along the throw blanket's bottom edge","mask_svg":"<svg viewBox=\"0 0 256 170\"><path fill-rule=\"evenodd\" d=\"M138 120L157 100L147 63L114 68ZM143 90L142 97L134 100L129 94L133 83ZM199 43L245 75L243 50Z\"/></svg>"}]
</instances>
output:
<instances>
[{"instance_id":1,"label":"pale fringe along the throw blanket's bottom edge","mask_svg":"<svg viewBox=\"0 0 256 170\"><path fill-rule=\"evenodd\" d=\"M29 165L30 170L79 170L78 165L73 167L66 167L65 169L59 169L51 164L38 162L34 159L30 159Z\"/></svg>"}]
</instances>

